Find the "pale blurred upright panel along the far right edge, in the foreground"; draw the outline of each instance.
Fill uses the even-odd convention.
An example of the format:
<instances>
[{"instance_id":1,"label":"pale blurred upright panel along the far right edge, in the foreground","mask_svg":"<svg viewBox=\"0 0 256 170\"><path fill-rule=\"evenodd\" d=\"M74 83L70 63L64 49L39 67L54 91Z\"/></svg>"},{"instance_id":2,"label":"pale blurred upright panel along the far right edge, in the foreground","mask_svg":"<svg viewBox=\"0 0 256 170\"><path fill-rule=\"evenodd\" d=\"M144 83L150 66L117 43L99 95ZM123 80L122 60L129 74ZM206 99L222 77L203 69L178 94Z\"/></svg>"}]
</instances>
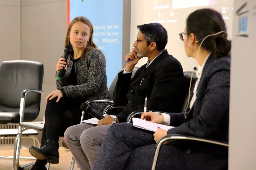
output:
<instances>
[{"instance_id":1,"label":"pale blurred upright panel along the far right edge, in the foreground","mask_svg":"<svg viewBox=\"0 0 256 170\"><path fill-rule=\"evenodd\" d=\"M234 13L245 2L249 37L236 36L238 17L234 15L229 113L229 169L256 169L255 133L255 47L256 1L235 0Z\"/></svg>"}]
</instances>

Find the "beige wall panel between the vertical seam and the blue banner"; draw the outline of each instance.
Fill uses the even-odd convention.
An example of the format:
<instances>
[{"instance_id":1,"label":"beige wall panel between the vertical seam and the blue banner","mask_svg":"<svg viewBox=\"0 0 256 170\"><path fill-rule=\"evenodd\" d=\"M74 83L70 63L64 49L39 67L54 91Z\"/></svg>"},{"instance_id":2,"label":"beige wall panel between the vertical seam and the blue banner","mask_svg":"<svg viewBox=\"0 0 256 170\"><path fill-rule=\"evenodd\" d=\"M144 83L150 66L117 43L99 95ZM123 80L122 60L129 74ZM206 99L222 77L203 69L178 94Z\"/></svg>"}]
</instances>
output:
<instances>
[{"instance_id":1,"label":"beige wall panel between the vertical seam and the blue banner","mask_svg":"<svg viewBox=\"0 0 256 170\"><path fill-rule=\"evenodd\" d=\"M63 54L66 31L67 0L21 0L21 60L44 64L42 90L45 94L41 96L36 121L43 120L45 98L56 90L56 63ZM41 135L38 138L40 140Z\"/></svg>"}]
</instances>

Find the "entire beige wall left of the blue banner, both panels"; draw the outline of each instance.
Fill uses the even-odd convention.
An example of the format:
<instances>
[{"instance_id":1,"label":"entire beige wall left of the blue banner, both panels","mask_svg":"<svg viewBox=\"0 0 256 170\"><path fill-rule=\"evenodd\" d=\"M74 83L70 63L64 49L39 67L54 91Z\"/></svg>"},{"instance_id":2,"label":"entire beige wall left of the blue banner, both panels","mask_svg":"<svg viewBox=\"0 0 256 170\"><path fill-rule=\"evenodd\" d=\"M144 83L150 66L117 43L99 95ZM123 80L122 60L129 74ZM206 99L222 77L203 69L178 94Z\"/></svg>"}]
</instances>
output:
<instances>
[{"instance_id":1,"label":"entire beige wall left of the blue banner, both panels","mask_svg":"<svg viewBox=\"0 0 256 170\"><path fill-rule=\"evenodd\" d=\"M56 89L55 68L63 54L67 30L67 0L0 0L0 62L32 60L44 64L40 114L47 94ZM37 136L40 140L41 135ZM23 140L28 147L32 143ZM30 141L29 141L30 142Z\"/></svg>"}]
</instances>

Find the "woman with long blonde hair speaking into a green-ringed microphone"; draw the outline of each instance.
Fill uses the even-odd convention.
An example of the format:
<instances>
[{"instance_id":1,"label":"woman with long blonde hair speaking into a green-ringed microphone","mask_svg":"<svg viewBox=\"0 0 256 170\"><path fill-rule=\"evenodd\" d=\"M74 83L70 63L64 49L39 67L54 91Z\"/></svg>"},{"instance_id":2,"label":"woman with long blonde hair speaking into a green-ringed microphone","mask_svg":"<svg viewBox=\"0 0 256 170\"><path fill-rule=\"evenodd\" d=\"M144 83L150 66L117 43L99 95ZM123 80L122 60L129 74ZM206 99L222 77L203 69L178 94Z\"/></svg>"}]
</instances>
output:
<instances>
[{"instance_id":1,"label":"woman with long blonde hair speaking into a green-ringed microphone","mask_svg":"<svg viewBox=\"0 0 256 170\"><path fill-rule=\"evenodd\" d=\"M61 80L56 80L57 89L47 97L45 126L41 148L29 148L37 161L32 170L45 170L47 162L59 163L59 137L65 130L78 124L86 100L110 99L106 79L106 60L103 53L93 42L93 26L85 17L74 18L68 27L65 46L72 51L65 62L60 58L56 72L63 70ZM102 112L107 103L93 103L91 106ZM85 119L91 118L88 114Z\"/></svg>"}]
</instances>

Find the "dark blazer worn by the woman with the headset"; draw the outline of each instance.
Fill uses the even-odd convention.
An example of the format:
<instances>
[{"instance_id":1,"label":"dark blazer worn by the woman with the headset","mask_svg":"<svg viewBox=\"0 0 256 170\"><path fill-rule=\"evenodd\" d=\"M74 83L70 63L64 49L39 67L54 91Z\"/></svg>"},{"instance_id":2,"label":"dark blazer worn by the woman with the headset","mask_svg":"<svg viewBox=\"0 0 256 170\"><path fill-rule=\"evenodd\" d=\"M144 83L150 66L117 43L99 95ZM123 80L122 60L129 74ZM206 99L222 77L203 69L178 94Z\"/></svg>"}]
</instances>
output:
<instances>
[{"instance_id":1,"label":"dark blazer worn by the woman with the headset","mask_svg":"<svg viewBox=\"0 0 256 170\"><path fill-rule=\"evenodd\" d=\"M170 113L167 134L183 134L228 142L230 58L209 56L197 88L196 101L189 112ZM175 143L174 143L175 144ZM226 169L228 148L202 142L180 142L191 169ZM189 151L189 152L188 152Z\"/></svg>"}]
</instances>

